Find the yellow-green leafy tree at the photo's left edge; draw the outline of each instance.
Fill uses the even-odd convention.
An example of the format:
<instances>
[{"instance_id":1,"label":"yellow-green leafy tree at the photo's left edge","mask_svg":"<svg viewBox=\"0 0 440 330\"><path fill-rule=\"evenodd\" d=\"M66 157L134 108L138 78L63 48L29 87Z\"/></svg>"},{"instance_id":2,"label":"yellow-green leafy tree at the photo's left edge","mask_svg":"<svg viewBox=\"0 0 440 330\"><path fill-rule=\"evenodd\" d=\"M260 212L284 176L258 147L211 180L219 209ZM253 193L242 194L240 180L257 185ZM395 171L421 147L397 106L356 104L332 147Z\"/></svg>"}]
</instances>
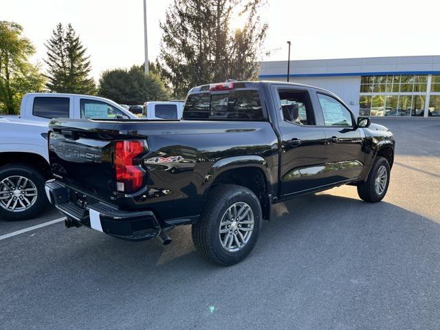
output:
<instances>
[{"instance_id":1,"label":"yellow-green leafy tree at the photo's left edge","mask_svg":"<svg viewBox=\"0 0 440 330\"><path fill-rule=\"evenodd\" d=\"M44 87L39 67L29 61L34 46L22 33L21 25L0 21L0 111L11 115L19 112L25 93Z\"/></svg>"}]
</instances>

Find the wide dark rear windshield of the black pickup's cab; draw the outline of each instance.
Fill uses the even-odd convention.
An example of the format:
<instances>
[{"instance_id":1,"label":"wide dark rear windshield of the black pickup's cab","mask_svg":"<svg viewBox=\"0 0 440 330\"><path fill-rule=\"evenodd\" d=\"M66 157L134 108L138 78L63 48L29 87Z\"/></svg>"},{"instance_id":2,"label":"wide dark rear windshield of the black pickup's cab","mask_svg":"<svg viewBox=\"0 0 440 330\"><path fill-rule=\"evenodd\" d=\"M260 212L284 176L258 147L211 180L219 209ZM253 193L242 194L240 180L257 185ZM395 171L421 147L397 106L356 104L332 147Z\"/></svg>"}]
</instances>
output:
<instances>
[{"instance_id":1,"label":"wide dark rear windshield of the black pickup's cab","mask_svg":"<svg viewBox=\"0 0 440 330\"><path fill-rule=\"evenodd\" d=\"M184 119L265 120L258 91L190 94L185 102Z\"/></svg>"}]
</instances>

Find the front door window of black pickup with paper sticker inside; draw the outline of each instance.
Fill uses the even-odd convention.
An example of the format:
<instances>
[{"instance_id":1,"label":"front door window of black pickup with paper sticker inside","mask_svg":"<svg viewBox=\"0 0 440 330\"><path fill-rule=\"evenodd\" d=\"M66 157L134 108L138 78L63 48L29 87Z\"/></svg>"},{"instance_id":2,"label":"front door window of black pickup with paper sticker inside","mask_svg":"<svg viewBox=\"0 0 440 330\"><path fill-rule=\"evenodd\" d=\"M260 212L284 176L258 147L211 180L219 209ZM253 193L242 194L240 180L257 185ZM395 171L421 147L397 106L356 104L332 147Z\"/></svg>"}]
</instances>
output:
<instances>
[{"instance_id":1,"label":"front door window of black pickup with paper sticker inside","mask_svg":"<svg viewBox=\"0 0 440 330\"><path fill-rule=\"evenodd\" d=\"M324 115L325 126L353 126L350 111L336 98L318 94L318 99Z\"/></svg>"}]
</instances>

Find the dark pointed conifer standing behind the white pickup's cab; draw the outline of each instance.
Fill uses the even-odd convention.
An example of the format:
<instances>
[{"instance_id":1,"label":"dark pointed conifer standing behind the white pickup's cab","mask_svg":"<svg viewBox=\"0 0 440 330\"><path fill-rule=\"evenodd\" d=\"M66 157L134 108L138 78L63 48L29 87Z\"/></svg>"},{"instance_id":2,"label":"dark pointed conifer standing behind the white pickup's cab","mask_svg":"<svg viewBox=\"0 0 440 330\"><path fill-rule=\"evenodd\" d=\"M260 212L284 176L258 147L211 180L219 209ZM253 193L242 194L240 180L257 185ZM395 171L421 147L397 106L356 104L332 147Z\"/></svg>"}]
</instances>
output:
<instances>
[{"instance_id":1,"label":"dark pointed conifer standing behind the white pickup's cab","mask_svg":"<svg viewBox=\"0 0 440 330\"><path fill-rule=\"evenodd\" d=\"M95 94L90 56L72 25L65 29L61 23L47 41L47 89L56 93Z\"/></svg>"}]
</instances>

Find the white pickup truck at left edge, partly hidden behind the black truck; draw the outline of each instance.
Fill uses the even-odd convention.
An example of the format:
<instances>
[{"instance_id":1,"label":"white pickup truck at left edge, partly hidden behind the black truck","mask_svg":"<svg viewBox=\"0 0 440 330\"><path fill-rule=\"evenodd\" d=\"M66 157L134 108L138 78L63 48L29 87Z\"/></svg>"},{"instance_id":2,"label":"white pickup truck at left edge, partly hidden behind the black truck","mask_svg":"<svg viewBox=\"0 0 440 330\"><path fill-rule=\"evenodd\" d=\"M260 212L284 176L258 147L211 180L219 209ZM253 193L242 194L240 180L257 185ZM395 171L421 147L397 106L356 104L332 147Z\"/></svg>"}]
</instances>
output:
<instances>
[{"instance_id":1,"label":"white pickup truck at left edge, partly hidden behind the black truck","mask_svg":"<svg viewBox=\"0 0 440 330\"><path fill-rule=\"evenodd\" d=\"M0 115L0 219L30 219L47 205L47 124L52 118L137 119L106 98L26 94L21 100L20 115Z\"/></svg>"}]
</instances>

